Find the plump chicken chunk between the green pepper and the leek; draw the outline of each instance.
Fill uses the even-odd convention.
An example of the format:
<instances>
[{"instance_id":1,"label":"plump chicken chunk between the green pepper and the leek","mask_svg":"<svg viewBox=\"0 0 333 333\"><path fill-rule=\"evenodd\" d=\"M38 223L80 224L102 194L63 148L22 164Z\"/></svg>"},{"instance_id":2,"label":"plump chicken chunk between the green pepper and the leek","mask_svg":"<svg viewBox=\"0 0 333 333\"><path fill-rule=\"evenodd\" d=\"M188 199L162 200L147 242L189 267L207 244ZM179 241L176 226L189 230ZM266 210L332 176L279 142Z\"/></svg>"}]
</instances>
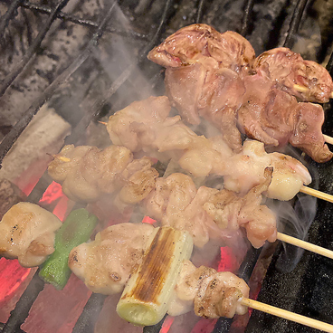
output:
<instances>
[{"instance_id":1,"label":"plump chicken chunk between the green pepper and the leek","mask_svg":"<svg viewBox=\"0 0 333 333\"><path fill-rule=\"evenodd\" d=\"M93 292L110 295L123 290L138 268L151 224L115 224L96 234L95 240L71 250L69 266Z\"/></svg>"}]
</instances>

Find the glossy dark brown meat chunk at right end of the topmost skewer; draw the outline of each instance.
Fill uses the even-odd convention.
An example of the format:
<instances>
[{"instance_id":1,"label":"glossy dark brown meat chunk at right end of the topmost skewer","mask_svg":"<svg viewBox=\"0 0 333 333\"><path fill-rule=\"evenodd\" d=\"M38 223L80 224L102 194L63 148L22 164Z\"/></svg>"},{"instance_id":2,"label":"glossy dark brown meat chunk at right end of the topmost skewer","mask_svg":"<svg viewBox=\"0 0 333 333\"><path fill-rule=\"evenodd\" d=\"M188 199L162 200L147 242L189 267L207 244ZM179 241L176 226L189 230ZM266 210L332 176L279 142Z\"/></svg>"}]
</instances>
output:
<instances>
[{"instance_id":1,"label":"glossy dark brown meat chunk at right end of the topmost skewer","mask_svg":"<svg viewBox=\"0 0 333 333\"><path fill-rule=\"evenodd\" d=\"M300 100L325 103L333 91L332 78L324 67L303 60L300 54L285 47L263 52L253 68Z\"/></svg>"}]
</instances>

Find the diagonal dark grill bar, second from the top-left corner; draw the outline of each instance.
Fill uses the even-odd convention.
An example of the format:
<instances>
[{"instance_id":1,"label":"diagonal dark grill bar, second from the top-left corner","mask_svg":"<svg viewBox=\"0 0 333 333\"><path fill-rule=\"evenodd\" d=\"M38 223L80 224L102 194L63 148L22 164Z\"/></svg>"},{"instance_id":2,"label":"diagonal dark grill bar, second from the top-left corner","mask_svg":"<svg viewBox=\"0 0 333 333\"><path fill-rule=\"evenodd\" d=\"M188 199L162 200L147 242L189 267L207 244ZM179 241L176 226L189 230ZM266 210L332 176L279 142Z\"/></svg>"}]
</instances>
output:
<instances>
[{"instance_id":1,"label":"diagonal dark grill bar, second from the top-left corner","mask_svg":"<svg viewBox=\"0 0 333 333\"><path fill-rule=\"evenodd\" d=\"M24 70L25 66L33 59L33 55L43 42L43 39L46 33L49 31L53 21L56 19L56 14L62 10L62 8L67 5L69 0L61 0L58 5L54 7L52 13L50 14L49 18L47 19L46 23L43 26L43 29L40 33L38 33L36 39L33 41L32 45L29 47L28 51L24 54L23 58L20 62L16 64L13 71L11 71L3 81L0 87L0 97L4 95L5 90L12 84L12 82L17 78L17 76Z\"/></svg>"}]
</instances>

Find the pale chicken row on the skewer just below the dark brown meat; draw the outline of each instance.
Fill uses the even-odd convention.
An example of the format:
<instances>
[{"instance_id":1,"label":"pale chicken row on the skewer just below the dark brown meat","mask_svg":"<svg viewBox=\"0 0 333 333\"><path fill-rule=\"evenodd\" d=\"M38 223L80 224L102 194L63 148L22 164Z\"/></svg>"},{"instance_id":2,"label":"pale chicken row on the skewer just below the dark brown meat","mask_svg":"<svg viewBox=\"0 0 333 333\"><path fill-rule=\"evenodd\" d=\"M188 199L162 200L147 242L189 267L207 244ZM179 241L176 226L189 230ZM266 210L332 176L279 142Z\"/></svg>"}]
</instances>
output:
<instances>
[{"instance_id":1,"label":"pale chicken row on the skewer just below the dark brown meat","mask_svg":"<svg viewBox=\"0 0 333 333\"><path fill-rule=\"evenodd\" d=\"M264 181L266 166L273 167L267 192L272 198L290 200L303 184L311 182L308 170L295 158L267 154L261 142L252 140L246 140L241 152L234 154L221 137L198 136L178 116L167 117L169 111L165 96L136 101L109 118L109 136L114 144L135 152L173 158L193 176L224 176L225 188L242 195ZM143 129L149 140L141 135Z\"/></svg>"}]
</instances>

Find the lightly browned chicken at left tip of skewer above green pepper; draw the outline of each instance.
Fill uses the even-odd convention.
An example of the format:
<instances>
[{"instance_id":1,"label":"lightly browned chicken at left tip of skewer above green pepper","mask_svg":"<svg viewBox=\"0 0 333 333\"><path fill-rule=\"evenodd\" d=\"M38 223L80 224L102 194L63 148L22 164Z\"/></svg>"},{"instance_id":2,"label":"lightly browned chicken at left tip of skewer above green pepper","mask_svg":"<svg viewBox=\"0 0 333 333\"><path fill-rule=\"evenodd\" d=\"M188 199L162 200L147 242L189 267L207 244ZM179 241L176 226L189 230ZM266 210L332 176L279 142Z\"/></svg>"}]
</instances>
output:
<instances>
[{"instance_id":1,"label":"lightly browned chicken at left tip of skewer above green pepper","mask_svg":"<svg viewBox=\"0 0 333 333\"><path fill-rule=\"evenodd\" d=\"M65 146L54 156L49 175L73 201L93 202L119 192L119 205L135 204L155 186L157 170L147 157L133 160L127 147Z\"/></svg>"}]
</instances>

